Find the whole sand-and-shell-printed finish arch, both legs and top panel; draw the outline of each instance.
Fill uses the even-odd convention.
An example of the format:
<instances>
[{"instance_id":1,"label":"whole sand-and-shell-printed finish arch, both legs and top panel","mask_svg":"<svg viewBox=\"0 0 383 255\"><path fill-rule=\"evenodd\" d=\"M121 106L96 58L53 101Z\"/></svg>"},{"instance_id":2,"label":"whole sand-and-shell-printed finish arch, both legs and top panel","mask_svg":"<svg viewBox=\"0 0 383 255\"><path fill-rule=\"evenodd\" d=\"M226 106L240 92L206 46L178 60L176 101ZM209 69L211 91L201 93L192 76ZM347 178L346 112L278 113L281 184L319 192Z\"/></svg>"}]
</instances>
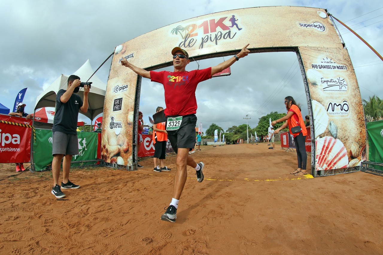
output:
<instances>
[{"instance_id":1,"label":"whole sand-and-shell-printed finish arch, both legs and top panel","mask_svg":"<svg viewBox=\"0 0 383 255\"><path fill-rule=\"evenodd\" d=\"M327 11L307 7L259 7L180 21L116 47L108 78L102 128L106 163L136 168L137 109L141 77L121 66L125 58L155 70L172 65L170 50L194 60L250 51L296 52L311 118L311 166L317 171L357 169L365 159L362 100L347 50Z\"/></svg>"}]
</instances>

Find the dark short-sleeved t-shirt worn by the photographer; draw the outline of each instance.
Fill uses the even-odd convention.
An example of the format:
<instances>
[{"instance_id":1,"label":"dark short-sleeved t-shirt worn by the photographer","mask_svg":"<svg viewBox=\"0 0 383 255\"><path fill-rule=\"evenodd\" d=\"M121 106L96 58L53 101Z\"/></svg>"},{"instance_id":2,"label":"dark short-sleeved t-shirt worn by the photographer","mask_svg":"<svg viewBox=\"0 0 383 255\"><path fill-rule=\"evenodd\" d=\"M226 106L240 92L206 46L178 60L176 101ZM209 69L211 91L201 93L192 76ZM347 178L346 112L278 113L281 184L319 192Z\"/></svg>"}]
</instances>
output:
<instances>
[{"instance_id":1,"label":"dark short-sleeved t-shirt worn by the photographer","mask_svg":"<svg viewBox=\"0 0 383 255\"><path fill-rule=\"evenodd\" d=\"M57 92L56 113L54 114L52 131L77 134L77 118L83 102L79 95L73 93L66 103L61 103L60 98L65 92L66 90Z\"/></svg>"}]
</instances>

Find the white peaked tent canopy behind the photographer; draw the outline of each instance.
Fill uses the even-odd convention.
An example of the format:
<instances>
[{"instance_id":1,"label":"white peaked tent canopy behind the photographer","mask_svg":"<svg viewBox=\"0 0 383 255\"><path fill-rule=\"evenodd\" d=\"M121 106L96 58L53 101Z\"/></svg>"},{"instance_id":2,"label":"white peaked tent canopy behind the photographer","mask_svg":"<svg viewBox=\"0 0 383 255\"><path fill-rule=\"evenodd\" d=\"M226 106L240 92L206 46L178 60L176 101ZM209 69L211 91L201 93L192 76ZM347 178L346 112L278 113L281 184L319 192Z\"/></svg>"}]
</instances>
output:
<instances>
[{"instance_id":1,"label":"white peaked tent canopy behind the photographer","mask_svg":"<svg viewBox=\"0 0 383 255\"><path fill-rule=\"evenodd\" d=\"M79 76L82 82L86 82L93 73L94 71L90 66L88 59L82 67L79 68L79 70L74 72L74 75ZM62 74L51 85L49 85L49 87L36 98L34 110L42 107L55 107L57 92L61 89L65 90L68 87L67 84L69 76L70 75ZM103 112L106 84L103 83L96 75L93 75L89 82L93 83L88 94L88 112L84 114L80 111L80 113L84 114L93 121L98 114ZM79 95L82 99L84 98L83 88L80 88L77 95Z\"/></svg>"}]
</instances>

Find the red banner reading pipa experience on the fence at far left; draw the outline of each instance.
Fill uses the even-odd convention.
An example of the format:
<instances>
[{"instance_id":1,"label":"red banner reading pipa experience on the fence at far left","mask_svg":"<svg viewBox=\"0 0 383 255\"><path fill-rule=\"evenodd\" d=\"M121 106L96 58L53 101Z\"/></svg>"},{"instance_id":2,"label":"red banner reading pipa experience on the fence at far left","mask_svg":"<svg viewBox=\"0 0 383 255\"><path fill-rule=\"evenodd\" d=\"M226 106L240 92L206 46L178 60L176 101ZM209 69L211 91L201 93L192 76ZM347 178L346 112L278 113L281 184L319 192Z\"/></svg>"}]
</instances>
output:
<instances>
[{"instance_id":1,"label":"red banner reading pipa experience on the fence at far left","mask_svg":"<svg viewBox=\"0 0 383 255\"><path fill-rule=\"evenodd\" d=\"M32 120L0 115L0 163L30 162L32 128L26 125L32 126Z\"/></svg>"}]
</instances>

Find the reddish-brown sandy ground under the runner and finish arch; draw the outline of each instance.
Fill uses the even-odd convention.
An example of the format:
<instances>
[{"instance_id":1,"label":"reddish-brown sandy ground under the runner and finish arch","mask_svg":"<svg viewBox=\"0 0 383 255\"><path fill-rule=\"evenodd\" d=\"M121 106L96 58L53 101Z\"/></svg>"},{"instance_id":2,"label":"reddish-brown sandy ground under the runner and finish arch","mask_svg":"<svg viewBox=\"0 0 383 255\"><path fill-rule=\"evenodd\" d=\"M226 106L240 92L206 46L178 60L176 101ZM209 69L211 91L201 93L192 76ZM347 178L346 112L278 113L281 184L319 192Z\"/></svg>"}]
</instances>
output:
<instances>
[{"instance_id":1,"label":"reddish-brown sandy ground under the runner and finish arch","mask_svg":"<svg viewBox=\"0 0 383 255\"><path fill-rule=\"evenodd\" d=\"M383 177L295 177L295 152L267 148L201 146L192 156L205 180L188 168L175 223L160 220L175 155L170 172L153 172L152 159L136 172L74 169L81 188L64 190L65 201L51 194L50 172L2 178L0 253L383 254ZM0 168L0 178L15 174Z\"/></svg>"}]
</instances>

